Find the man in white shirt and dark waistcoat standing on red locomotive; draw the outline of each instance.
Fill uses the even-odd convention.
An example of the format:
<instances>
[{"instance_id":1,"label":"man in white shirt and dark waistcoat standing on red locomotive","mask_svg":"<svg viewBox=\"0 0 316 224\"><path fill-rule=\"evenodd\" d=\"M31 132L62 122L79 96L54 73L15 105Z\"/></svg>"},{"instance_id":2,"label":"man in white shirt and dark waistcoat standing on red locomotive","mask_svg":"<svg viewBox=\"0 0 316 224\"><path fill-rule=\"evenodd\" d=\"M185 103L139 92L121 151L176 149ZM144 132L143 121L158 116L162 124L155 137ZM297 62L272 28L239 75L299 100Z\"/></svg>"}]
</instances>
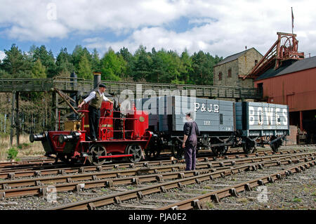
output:
<instances>
[{"instance_id":1,"label":"man in white shirt and dark waistcoat standing on red locomotive","mask_svg":"<svg viewBox=\"0 0 316 224\"><path fill-rule=\"evenodd\" d=\"M84 99L82 103L78 106L79 108L82 107L85 103L89 103L89 128L90 128L90 138L92 141L98 140L99 135L99 121L100 121L100 108L103 101L110 101L105 95L105 85L100 84L98 91L92 91L87 98Z\"/></svg>"}]
</instances>

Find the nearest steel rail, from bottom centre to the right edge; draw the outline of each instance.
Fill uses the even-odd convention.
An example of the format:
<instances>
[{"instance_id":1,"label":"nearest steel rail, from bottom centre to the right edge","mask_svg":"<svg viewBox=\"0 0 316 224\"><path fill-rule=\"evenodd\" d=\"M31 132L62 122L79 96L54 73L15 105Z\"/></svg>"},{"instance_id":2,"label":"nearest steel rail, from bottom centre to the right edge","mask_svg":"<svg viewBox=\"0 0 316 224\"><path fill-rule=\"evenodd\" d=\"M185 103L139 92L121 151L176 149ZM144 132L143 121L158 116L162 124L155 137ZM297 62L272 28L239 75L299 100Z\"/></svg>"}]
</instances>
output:
<instances>
[{"instance_id":1,"label":"nearest steel rail, from bottom centre to the right edge","mask_svg":"<svg viewBox=\"0 0 316 224\"><path fill-rule=\"evenodd\" d=\"M237 197L239 192L243 191L251 191L252 188L258 187L260 185L265 185L266 183L274 183L275 180L280 180L282 177L290 176L293 173L300 173L301 171L305 171L305 169L310 168L310 166L315 166L315 161L309 161L297 164L296 166L291 166L288 169L284 169L282 171L278 171L276 173L272 173L267 176L263 176L260 178L255 178L252 180L247 180L243 183L239 183L237 185L225 187L220 190L216 190L214 192L210 192L209 194L201 195L198 197L194 197L191 199L185 199L181 202L176 202L173 204L169 204L168 206L163 206L158 208L157 210L189 210L189 209L202 209L202 206L205 202L220 202L220 199L224 197Z\"/></svg>"}]
</instances>

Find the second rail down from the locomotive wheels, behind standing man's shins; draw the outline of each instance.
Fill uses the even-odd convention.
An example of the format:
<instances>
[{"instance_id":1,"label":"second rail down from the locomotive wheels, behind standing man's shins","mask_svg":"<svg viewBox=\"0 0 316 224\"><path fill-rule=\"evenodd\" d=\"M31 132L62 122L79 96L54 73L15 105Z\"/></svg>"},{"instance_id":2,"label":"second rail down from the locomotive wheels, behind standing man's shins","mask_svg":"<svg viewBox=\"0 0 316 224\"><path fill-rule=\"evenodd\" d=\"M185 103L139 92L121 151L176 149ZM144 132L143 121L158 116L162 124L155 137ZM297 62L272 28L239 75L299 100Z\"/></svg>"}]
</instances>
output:
<instances>
[{"instance_id":1,"label":"second rail down from the locomotive wheels, behind standing man's shins","mask_svg":"<svg viewBox=\"0 0 316 224\"><path fill-rule=\"evenodd\" d=\"M297 158L304 156L315 156L315 153L303 153L294 155L278 155L271 157L259 157L254 159L235 159L232 161L224 162L213 162L213 163L200 163L197 164L197 169L211 169L225 166L234 166L235 164L245 164L253 162L263 162L265 160L280 159L280 158ZM52 176L44 178L32 178L32 179L22 179L22 180L4 180L0 181L0 190L11 189L13 187L29 187L29 186L38 186L44 184L55 184L55 183L69 183L70 181L79 181L79 180L96 180L103 178L117 178L119 176L129 176L129 175L138 175L138 173L162 173L166 171L176 171L185 169L184 164L173 165L173 166L162 166L162 167L152 167L147 169L130 169L130 170L121 170L121 171L107 171L107 172L97 172L97 173L83 173L76 175L64 175L64 176Z\"/></svg>"}]
</instances>

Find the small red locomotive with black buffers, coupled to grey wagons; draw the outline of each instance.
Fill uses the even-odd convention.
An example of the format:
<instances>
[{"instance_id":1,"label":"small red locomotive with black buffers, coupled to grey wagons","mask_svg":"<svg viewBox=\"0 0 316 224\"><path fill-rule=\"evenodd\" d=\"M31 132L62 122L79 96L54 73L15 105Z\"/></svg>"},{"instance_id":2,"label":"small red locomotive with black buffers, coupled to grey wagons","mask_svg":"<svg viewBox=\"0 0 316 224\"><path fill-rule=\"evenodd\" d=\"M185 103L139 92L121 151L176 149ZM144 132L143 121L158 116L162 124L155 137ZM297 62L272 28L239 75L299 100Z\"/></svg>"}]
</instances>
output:
<instances>
[{"instance_id":1,"label":"small red locomotive with black buffers, coupled to grey wagons","mask_svg":"<svg viewBox=\"0 0 316 224\"><path fill-rule=\"evenodd\" d=\"M150 143L152 132L148 129L148 114L137 111L135 107L126 115L115 111L112 103L103 102L100 109L99 138L96 142L87 140L90 129L88 125L88 104L84 105L84 114L76 130L46 131L29 136L29 140L41 140L47 156L56 155L64 162L79 160L86 163L102 165L111 158L127 157L130 162L139 162L143 150ZM78 122L77 122L78 123Z\"/></svg>"}]
</instances>

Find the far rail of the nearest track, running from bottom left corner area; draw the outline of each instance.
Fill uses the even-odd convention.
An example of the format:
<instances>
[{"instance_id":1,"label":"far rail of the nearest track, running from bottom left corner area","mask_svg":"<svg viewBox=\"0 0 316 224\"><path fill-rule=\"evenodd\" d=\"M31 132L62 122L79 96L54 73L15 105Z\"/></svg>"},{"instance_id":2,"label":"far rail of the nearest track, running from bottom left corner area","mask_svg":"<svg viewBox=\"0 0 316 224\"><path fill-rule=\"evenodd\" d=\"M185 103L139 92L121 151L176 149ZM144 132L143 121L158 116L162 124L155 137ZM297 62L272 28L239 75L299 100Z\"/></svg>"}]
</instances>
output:
<instances>
[{"instance_id":1,"label":"far rail of the nearest track, running from bottom left corner area","mask_svg":"<svg viewBox=\"0 0 316 224\"><path fill-rule=\"evenodd\" d=\"M312 159L315 159L315 158L312 158ZM289 160L285 161L285 162L288 162L289 164L291 164L291 162ZM237 172L240 172L242 170L247 170L247 169L251 169L251 168L257 169L257 168L263 167L264 163L268 163L268 162L248 164L248 165L234 167L231 169L225 169L223 171L216 171L213 173L205 173L202 175L192 176L189 178L183 178L180 180L169 181L167 183L160 183L157 185L152 185L149 187L141 187L141 188L138 188L136 190L129 190L128 192L119 192L119 193L107 195L104 197L97 197L97 198L93 198L93 199L87 199L87 200L84 200L81 202L75 202L75 203L65 204L62 206L56 206L53 208L48 208L47 210L96 209L96 207L99 207L99 206L105 206L107 204L115 204L115 203L119 204L124 200L142 198L144 195L150 195L152 193L166 192L166 190L169 190L172 188L183 187L183 185L189 185L192 183L201 183L204 180L213 180L214 178L229 176L233 173L237 173ZM280 165L281 163L276 161L276 164ZM308 164L308 162L305 164Z\"/></svg>"}]
</instances>

